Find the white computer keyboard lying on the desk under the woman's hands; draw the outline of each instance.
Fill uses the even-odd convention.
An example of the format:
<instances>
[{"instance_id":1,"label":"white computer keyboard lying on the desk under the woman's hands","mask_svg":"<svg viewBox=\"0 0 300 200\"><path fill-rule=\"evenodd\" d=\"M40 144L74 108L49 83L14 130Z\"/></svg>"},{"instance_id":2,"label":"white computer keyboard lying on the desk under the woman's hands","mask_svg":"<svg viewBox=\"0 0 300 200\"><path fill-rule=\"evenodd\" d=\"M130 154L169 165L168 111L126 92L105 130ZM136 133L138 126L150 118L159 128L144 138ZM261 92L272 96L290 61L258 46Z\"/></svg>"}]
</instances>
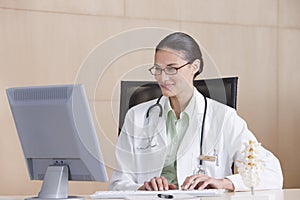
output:
<instances>
[{"instance_id":1,"label":"white computer keyboard lying on the desk under the woman's hands","mask_svg":"<svg viewBox=\"0 0 300 200\"><path fill-rule=\"evenodd\" d=\"M160 195L191 195L196 197L221 196L224 189L205 189L205 190L168 190L168 191L97 191L90 195L92 199L125 199L130 196L158 196Z\"/></svg>"}]
</instances>

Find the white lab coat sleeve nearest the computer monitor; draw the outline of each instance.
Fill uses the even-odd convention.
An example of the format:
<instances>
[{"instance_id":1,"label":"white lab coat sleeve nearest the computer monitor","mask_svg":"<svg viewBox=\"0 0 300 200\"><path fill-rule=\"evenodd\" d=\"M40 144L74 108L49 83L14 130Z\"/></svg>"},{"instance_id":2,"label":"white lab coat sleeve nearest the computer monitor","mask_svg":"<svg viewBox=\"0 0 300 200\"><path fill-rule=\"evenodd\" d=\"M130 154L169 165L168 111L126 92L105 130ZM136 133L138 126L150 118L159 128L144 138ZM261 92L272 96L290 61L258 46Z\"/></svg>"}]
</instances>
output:
<instances>
[{"instance_id":1,"label":"white lab coat sleeve nearest the computer monitor","mask_svg":"<svg viewBox=\"0 0 300 200\"><path fill-rule=\"evenodd\" d=\"M137 184L137 176L134 173L133 138L128 132L133 130L130 127L132 120L134 119L129 110L116 144L116 166L110 179L109 190L137 190L141 186Z\"/></svg>"}]
</instances>

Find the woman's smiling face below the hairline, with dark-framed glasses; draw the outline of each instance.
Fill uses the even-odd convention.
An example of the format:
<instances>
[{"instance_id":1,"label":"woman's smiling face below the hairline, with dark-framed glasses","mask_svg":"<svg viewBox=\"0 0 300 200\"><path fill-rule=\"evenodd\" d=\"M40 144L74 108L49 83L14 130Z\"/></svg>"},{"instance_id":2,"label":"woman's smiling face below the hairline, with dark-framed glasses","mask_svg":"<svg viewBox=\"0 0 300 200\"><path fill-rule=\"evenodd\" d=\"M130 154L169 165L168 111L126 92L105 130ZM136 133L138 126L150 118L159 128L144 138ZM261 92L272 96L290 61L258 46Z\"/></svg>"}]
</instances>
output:
<instances>
[{"instance_id":1,"label":"woman's smiling face below the hairline, with dark-framed glasses","mask_svg":"<svg viewBox=\"0 0 300 200\"><path fill-rule=\"evenodd\" d=\"M180 52L164 49L158 50L154 57L154 63L165 69L167 66L179 68L188 61L183 59ZM193 67L193 64L187 64L177 71L177 74L168 75L164 71L160 75L155 75L162 94L167 97L184 95L186 90L193 88L194 74L198 69Z\"/></svg>"}]
</instances>

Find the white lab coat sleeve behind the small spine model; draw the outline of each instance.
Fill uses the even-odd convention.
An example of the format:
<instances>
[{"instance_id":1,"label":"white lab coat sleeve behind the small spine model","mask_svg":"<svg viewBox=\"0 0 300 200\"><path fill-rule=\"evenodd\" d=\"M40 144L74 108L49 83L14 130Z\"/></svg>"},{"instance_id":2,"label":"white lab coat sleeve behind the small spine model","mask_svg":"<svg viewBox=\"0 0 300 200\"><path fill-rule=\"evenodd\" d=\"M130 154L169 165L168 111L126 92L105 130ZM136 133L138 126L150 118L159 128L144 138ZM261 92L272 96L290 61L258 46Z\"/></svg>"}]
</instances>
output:
<instances>
[{"instance_id":1,"label":"white lab coat sleeve behind the small spine model","mask_svg":"<svg viewBox=\"0 0 300 200\"><path fill-rule=\"evenodd\" d=\"M243 160L244 154L242 152L245 148L245 144L248 143L249 140L257 140L251 131L248 130L245 121L241 119L236 112L232 112L228 116L226 123L227 125L224 134L228 134L230 137L225 137L227 138L225 144L228 145L228 153L239 169L241 165L238 161ZM261 182L255 189L281 189L283 185L283 176L279 160L262 146L258 151L259 159L264 162L264 169L260 176ZM226 178L231 180L235 191L246 191L250 189L244 185L240 174L226 176Z\"/></svg>"}]
</instances>

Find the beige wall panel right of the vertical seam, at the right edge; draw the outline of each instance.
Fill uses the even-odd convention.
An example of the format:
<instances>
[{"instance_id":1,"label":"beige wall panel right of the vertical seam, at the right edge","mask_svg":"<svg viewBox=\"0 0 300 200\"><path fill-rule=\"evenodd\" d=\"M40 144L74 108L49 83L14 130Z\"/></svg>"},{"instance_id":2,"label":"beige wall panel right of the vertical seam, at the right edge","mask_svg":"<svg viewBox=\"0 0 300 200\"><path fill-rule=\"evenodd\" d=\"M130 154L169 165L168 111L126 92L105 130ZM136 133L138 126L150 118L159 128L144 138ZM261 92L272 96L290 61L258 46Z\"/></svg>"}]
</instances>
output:
<instances>
[{"instance_id":1,"label":"beige wall panel right of the vertical seam, at the right edge","mask_svg":"<svg viewBox=\"0 0 300 200\"><path fill-rule=\"evenodd\" d=\"M279 32L279 71L278 71L278 131L279 153L285 171L288 187L299 187L300 153L300 31L281 30Z\"/></svg>"}]
</instances>

